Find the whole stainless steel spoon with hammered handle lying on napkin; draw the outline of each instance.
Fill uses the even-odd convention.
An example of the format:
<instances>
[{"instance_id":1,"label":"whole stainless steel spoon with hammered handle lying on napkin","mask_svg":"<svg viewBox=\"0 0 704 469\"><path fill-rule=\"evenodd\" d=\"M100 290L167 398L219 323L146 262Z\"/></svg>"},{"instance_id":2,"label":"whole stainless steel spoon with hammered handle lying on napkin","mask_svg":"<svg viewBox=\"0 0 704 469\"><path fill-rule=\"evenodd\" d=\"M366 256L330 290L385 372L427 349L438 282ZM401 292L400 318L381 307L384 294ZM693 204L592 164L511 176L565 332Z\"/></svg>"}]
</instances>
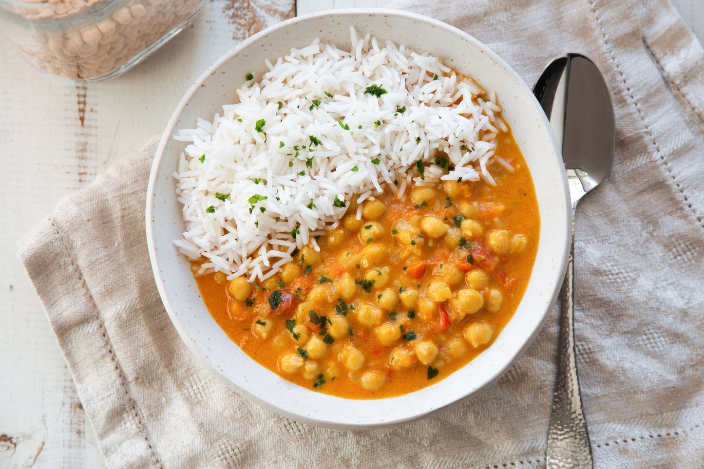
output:
<instances>
[{"instance_id":1,"label":"whole stainless steel spoon with hammered handle lying on napkin","mask_svg":"<svg viewBox=\"0 0 704 469\"><path fill-rule=\"evenodd\" d=\"M547 468L591 468L591 446L574 358L574 213L582 196L610 173L615 125L599 69L580 54L555 58L533 87L562 149L572 197L572 246L560 290L558 376L548 431Z\"/></svg>"}]
</instances>

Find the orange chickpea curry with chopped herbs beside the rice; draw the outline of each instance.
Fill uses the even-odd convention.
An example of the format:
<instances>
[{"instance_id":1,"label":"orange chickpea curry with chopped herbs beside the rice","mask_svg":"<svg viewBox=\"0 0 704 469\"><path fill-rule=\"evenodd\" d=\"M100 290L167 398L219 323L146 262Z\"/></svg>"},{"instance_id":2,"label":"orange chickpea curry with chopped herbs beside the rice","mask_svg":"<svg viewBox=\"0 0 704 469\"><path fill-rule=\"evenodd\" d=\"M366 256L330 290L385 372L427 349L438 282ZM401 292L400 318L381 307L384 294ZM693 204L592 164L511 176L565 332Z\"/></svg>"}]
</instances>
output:
<instances>
[{"instance_id":1,"label":"orange chickpea curry with chopped herbs beside the rice","mask_svg":"<svg viewBox=\"0 0 704 469\"><path fill-rule=\"evenodd\" d=\"M513 171L494 165L495 186L445 181L403 201L387 188L268 280L197 276L210 314L253 360L325 394L378 399L442 380L491 346L535 261L538 204L510 132L496 154Z\"/></svg>"}]
</instances>

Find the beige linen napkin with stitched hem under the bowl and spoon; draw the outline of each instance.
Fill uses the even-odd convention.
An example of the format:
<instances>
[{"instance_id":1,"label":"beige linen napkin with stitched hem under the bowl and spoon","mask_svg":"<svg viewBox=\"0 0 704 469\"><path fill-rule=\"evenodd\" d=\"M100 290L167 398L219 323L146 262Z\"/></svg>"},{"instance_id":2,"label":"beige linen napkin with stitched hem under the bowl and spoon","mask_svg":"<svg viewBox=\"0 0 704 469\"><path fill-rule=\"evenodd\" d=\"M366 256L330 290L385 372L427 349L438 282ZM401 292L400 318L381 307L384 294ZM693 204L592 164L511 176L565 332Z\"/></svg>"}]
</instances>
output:
<instances>
[{"instance_id":1,"label":"beige linen napkin with stitched hem under the bowl and spoon","mask_svg":"<svg viewBox=\"0 0 704 469\"><path fill-rule=\"evenodd\" d=\"M702 47L666 1L397 6L469 32L528 83L565 51L605 73L616 160L579 206L575 244L577 361L595 465L701 465ZM151 277L144 198L155 146L63 199L19 251L109 467L544 467L554 308L496 384L384 430L302 425L210 375L182 344Z\"/></svg>"}]
</instances>

